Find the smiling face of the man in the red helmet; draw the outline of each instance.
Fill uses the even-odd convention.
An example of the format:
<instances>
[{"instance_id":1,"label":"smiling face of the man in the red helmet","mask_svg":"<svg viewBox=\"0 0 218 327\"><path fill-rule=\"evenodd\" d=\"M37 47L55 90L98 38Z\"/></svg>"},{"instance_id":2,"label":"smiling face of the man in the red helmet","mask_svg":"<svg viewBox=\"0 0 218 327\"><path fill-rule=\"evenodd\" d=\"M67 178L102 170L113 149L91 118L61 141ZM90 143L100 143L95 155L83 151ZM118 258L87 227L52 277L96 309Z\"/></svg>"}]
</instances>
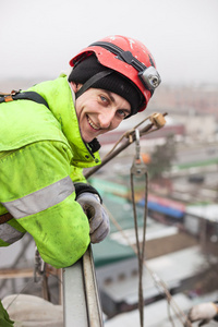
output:
<instances>
[{"instance_id":1,"label":"smiling face of the man in the red helmet","mask_svg":"<svg viewBox=\"0 0 218 327\"><path fill-rule=\"evenodd\" d=\"M86 143L119 126L131 113L131 105L121 96L89 88L75 101L81 135Z\"/></svg>"}]
</instances>

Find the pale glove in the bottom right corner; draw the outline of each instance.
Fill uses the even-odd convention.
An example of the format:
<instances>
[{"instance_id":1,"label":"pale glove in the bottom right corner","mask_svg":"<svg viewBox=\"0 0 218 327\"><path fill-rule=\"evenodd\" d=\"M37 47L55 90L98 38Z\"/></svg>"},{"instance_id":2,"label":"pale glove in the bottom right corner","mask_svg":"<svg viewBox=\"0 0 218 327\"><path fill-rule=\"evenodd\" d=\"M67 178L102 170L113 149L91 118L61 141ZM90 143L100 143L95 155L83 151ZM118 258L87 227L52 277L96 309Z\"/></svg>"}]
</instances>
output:
<instances>
[{"instance_id":1,"label":"pale glove in the bottom right corner","mask_svg":"<svg viewBox=\"0 0 218 327\"><path fill-rule=\"evenodd\" d=\"M218 306L213 302L201 303L194 305L189 312L187 318L191 323L199 322L198 326L207 324L218 314Z\"/></svg>"}]
</instances>

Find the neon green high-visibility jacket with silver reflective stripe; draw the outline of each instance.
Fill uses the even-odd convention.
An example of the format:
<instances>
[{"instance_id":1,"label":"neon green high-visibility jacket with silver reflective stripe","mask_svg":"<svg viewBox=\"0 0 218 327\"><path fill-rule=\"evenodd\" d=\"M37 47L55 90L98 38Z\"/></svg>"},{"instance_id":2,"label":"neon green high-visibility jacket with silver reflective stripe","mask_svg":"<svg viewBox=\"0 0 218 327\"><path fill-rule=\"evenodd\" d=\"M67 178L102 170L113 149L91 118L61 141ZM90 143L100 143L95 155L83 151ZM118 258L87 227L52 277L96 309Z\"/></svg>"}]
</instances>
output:
<instances>
[{"instance_id":1,"label":"neon green high-visibility jacket with silver reflective stripe","mask_svg":"<svg viewBox=\"0 0 218 327\"><path fill-rule=\"evenodd\" d=\"M74 264L89 244L89 225L75 201L73 182L83 168L100 164L84 144L66 76L35 85L49 109L32 100L0 105L0 246L27 231L43 259L61 268Z\"/></svg>"}]
</instances>

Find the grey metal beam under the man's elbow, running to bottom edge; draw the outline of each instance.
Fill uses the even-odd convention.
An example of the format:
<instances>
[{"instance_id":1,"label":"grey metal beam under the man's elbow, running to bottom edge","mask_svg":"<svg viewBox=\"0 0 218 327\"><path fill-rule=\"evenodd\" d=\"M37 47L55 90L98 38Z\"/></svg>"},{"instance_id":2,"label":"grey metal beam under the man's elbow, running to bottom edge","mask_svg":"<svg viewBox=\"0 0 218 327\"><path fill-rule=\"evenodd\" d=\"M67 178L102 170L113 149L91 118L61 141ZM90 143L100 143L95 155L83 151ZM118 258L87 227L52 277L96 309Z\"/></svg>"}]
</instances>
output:
<instances>
[{"instance_id":1,"label":"grey metal beam under the man's elbow, running to bottom edge","mask_svg":"<svg viewBox=\"0 0 218 327\"><path fill-rule=\"evenodd\" d=\"M63 268L64 327L102 327L92 247L73 266Z\"/></svg>"}]
</instances>

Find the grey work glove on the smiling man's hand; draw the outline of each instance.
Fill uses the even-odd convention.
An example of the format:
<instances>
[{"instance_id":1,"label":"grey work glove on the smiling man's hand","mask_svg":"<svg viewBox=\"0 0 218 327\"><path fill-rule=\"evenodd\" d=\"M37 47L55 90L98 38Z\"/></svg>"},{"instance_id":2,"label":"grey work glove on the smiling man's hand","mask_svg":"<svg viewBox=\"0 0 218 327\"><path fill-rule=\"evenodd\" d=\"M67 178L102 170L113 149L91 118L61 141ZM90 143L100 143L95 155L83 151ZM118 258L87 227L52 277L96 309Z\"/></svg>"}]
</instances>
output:
<instances>
[{"instance_id":1,"label":"grey work glove on the smiling man's hand","mask_svg":"<svg viewBox=\"0 0 218 327\"><path fill-rule=\"evenodd\" d=\"M110 231L110 222L109 216L100 204L98 195L84 192L77 196L76 201L89 220L90 242L101 242Z\"/></svg>"}]
</instances>

